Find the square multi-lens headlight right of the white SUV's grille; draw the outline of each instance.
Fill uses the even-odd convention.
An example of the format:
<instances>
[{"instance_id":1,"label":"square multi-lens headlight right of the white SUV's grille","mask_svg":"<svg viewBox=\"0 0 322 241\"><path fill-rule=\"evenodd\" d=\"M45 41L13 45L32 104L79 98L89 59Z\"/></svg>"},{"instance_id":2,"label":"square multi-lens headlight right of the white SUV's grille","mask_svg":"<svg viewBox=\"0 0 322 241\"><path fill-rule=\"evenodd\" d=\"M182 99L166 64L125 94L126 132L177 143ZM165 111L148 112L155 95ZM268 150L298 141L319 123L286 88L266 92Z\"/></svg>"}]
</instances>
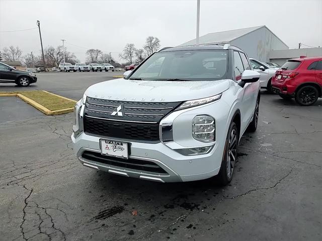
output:
<instances>
[{"instance_id":1,"label":"square multi-lens headlight right of the white SUV's grille","mask_svg":"<svg viewBox=\"0 0 322 241\"><path fill-rule=\"evenodd\" d=\"M202 142L215 140L215 119L208 115L196 116L192 121L192 136Z\"/></svg>"}]
</instances>

